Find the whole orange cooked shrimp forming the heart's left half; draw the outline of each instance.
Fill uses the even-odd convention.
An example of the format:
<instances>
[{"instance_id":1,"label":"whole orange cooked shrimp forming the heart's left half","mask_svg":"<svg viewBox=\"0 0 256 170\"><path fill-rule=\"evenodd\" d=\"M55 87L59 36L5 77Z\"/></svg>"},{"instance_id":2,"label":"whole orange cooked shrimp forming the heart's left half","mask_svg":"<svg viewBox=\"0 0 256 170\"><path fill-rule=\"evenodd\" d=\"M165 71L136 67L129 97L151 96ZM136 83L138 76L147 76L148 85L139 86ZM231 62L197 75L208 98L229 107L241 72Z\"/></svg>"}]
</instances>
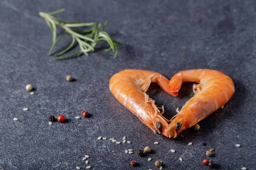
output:
<instances>
[{"instance_id":1,"label":"whole orange cooked shrimp forming the heart's left half","mask_svg":"<svg viewBox=\"0 0 256 170\"><path fill-rule=\"evenodd\" d=\"M168 120L162 116L163 111L160 112L154 100L145 93L151 82L157 82L163 90L171 94L168 87L169 79L162 74L135 69L123 70L113 75L109 82L109 88L116 99L151 130L169 136L167 133Z\"/></svg>"}]
</instances>

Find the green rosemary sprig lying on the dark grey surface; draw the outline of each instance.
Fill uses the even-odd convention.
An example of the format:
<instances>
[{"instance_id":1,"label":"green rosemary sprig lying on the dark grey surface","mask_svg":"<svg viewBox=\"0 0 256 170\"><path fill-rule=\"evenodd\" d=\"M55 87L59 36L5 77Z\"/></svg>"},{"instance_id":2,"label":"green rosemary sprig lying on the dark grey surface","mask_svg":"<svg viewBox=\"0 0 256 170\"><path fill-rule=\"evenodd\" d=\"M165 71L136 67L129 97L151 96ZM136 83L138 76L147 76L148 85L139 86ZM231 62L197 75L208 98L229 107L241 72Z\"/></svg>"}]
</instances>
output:
<instances>
[{"instance_id":1,"label":"green rosemary sprig lying on the dark grey surface","mask_svg":"<svg viewBox=\"0 0 256 170\"><path fill-rule=\"evenodd\" d=\"M61 56L62 54L65 54L67 51L69 51L75 42L79 44L80 51L70 54L65 57L57 57L55 59L67 59L70 57L76 57L80 56L82 54L85 54L88 56L88 52L94 51L94 47L97 42L99 41L106 41L108 42L110 48L106 49L105 51L112 50L115 52L114 58L116 58L118 54L118 45L122 45L120 42L117 42L116 40L113 40L107 32L104 31L105 27L108 25L108 21L105 22L102 26L101 23L78 23L78 22L72 22L72 21L64 21L64 20L58 20L56 17L53 17L53 14L58 14L60 12L63 12L65 9L60 9L58 11L54 12L39 12L39 15L44 18L47 25L52 31L52 47L49 50L48 55L52 54L52 50L57 44L57 42L63 37L65 34L70 34L72 37L72 42L70 45L64 49L63 51L55 54L55 56ZM101 27L102 26L102 27ZM63 28L64 33L57 36L57 27ZM76 27L91 27L89 29L85 29L83 31L80 31L76 29Z\"/></svg>"}]
</instances>

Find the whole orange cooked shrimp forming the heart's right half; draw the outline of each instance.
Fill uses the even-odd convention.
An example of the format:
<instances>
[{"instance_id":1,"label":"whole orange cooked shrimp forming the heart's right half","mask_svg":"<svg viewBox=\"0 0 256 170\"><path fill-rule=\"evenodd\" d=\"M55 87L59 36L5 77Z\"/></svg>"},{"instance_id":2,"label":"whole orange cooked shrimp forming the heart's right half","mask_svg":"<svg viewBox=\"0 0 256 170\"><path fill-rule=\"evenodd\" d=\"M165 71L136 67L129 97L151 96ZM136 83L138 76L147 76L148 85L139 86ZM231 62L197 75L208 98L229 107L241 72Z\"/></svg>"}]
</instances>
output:
<instances>
[{"instance_id":1,"label":"whole orange cooked shrimp forming the heart's right half","mask_svg":"<svg viewBox=\"0 0 256 170\"><path fill-rule=\"evenodd\" d=\"M183 82L198 82L193 85L195 96L171 120L168 127L169 137L197 124L211 113L221 108L235 92L232 79L216 70L197 69L180 71L169 83L173 96L177 96Z\"/></svg>"}]
</instances>

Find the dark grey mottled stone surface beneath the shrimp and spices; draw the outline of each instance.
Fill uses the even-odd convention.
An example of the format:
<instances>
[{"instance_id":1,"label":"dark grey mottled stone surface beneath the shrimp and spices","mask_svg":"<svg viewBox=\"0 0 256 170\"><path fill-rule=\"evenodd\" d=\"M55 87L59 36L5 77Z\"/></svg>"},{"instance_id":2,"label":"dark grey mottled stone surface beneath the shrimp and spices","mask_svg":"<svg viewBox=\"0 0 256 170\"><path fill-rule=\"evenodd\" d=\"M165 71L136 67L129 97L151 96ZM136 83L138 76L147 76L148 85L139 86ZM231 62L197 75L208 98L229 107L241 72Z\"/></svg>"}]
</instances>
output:
<instances>
[{"instance_id":1,"label":"dark grey mottled stone surface beneath the shrimp and spices","mask_svg":"<svg viewBox=\"0 0 256 170\"><path fill-rule=\"evenodd\" d=\"M157 159L164 161L166 170L207 170L201 161L206 150L215 148L216 169L255 170L255 6L253 0L1 0L0 169L85 169L82 158L88 154L95 170L157 170ZM118 57L112 59L113 53L102 50L108 48L105 43L89 57L48 57L52 35L38 11L60 8L66 11L56 17L63 20L109 20L106 31L124 43ZM69 43L67 37L54 52ZM199 122L199 131L188 129L167 139L143 125L109 91L110 77L127 68L157 71L168 78L186 69L217 69L233 79L236 92L223 109ZM67 82L67 74L76 81ZM28 83L35 87L35 95L25 90ZM193 95L192 83L185 83L178 97L154 84L148 94L165 106L170 118ZM25 107L29 111L23 111ZM83 109L91 117L74 119ZM60 113L68 121L49 126L48 116ZM132 143L117 145L99 141L98 136L127 136ZM193 145L188 147L189 142ZM124 152L146 145L154 152L142 158ZM131 160L140 166L130 167Z\"/></svg>"}]
</instances>

